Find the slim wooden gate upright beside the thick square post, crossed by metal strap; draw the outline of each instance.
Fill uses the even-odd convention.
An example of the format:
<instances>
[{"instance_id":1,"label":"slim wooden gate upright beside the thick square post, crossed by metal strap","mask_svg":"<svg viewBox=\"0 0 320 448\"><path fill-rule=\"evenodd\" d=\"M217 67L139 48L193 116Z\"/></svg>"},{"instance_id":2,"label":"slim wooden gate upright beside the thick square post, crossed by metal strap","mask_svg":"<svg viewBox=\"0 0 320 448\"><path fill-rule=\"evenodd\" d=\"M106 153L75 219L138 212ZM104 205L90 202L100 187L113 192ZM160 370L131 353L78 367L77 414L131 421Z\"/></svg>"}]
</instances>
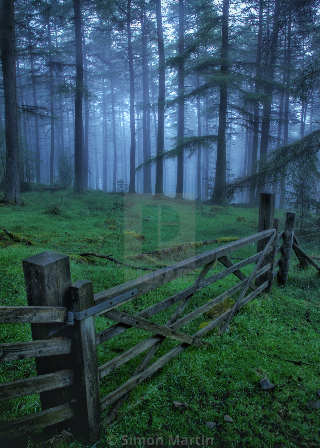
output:
<instances>
[{"instance_id":1,"label":"slim wooden gate upright beside the thick square post, crossed by metal strap","mask_svg":"<svg viewBox=\"0 0 320 448\"><path fill-rule=\"evenodd\" d=\"M92 282L78 280L71 286L71 296L74 311L91 308L94 306ZM73 330L76 358L74 391L77 394L75 429L91 445L100 439L102 430L94 316L75 320Z\"/></svg>"}]
</instances>

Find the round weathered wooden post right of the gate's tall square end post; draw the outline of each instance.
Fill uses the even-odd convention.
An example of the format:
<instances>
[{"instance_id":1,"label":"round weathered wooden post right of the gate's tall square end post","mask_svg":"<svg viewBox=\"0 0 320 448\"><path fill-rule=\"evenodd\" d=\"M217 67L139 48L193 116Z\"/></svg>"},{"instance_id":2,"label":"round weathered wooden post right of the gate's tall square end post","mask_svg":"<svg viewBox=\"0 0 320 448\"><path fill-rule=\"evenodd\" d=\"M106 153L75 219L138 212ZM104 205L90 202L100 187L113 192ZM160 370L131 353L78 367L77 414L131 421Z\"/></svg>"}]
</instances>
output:
<instances>
[{"instance_id":1,"label":"round weathered wooden post right of the gate's tall square end post","mask_svg":"<svg viewBox=\"0 0 320 448\"><path fill-rule=\"evenodd\" d=\"M288 280L289 264L292 250L292 243L294 237L295 212L286 212L286 222L282 239L281 257L278 272L278 283L283 286Z\"/></svg>"}]
</instances>

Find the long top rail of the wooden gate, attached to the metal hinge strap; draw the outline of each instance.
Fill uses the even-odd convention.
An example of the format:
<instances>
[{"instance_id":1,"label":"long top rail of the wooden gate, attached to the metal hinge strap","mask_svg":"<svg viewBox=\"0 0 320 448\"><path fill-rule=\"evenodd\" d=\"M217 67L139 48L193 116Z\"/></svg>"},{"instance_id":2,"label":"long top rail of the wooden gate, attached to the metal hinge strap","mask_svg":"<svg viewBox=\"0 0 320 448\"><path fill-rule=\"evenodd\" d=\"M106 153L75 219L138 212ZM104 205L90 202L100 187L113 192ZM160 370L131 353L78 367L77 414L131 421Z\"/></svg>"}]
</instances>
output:
<instances>
[{"instance_id":1,"label":"long top rail of the wooden gate, attached to the metal hinge strap","mask_svg":"<svg viewBox=\"0 0 320 448\"><path fill-rule=\"evenodd\" d=\"M145 276L139 277L137 279L130 280L114 288L107 289L101 293L94 295L94 303L98 305L105 302L108 299L118 296L119 294L130 291L131 289L137 288L138 293L134 298L137 298L155 288L158 288L162 284L166 284L171 280L177 279L194 269L204 266L211 261L216 260L226 256L235 250L241 249L255 241L260 241L263 238L268 238L274 232L274 229L265 230L264 232L256 233L249 237L241 238L237 241L232 241L225 244L224 246L217 247L215 249L209 250L203 254L198 254L187 260L180 261L171 266L164 267L158 271L151 272ZM129 300L129 299L128 299ZM126 302L128 302L128 300ZM132 300L132 299L130 299ZM116 306L119 306L117 304Z\"/></svg>"}]
</instances>

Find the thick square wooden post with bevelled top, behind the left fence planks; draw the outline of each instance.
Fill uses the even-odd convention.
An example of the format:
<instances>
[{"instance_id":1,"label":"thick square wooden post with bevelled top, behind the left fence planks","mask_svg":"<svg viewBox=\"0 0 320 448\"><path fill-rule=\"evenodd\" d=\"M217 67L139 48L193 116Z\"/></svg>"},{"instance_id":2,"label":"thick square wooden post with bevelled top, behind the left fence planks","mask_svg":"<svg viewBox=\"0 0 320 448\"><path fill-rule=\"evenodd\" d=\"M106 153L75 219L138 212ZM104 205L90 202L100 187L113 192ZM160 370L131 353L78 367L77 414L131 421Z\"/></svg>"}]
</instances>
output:
<instances>
[{"instance_id":1,"label":"thick square wooden post with bevelled top, behind the left fence planks","mask_svg":"<svg viewBox=\"0 0 320 448\"><path fill-rule=\"evenodd\" d=\"M22 266L29 306L65 306L67 309L70 308L71 274L68 255L46 251L22 260ZM64 323L32 323L31 332L33 340L70 338L70 328ZM68 354L35 358L35 364L37 375L72 369ZM70 387L40 392L42 410L71 401L73 397L70 396L70 393ZM64 426L66 425L64 424Z\"/></svg>"}]
</instances>

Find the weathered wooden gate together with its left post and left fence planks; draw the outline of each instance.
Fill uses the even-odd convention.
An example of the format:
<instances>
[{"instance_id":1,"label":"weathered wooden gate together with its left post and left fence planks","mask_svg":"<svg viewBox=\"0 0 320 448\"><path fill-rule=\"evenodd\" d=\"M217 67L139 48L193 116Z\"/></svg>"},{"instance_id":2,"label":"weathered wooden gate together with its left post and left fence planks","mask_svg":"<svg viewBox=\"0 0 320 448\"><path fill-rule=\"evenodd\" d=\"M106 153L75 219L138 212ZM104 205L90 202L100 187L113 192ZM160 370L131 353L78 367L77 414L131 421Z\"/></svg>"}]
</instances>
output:
<instances>
[{"instance_id":1,"label":"weathered wooden gate together with its left post and left fence planks","mask_svg":"<svg viewBox=\"0 0 320 448\"><path fill-rule=\"evenodd\" d=\"M270 211L270 207L268 210ZM265 216L266 213L261 213L260 207L260 217L261 215ZM290 219L294 219L294 215L287 214L286 227L289 229ZM221 323L223 325L220 332L223 333L237 310L262 291L270 291L277 276L277 268L281 264L281 260L276 258L282 247L278 242L285 234L288 245L290 237L286 228L284 232L279 233L278 220L274 220L273 227L269 228L271 219L273 220L272 212L269 213L269 222L264 219L264 222L260 223L260 227L265 226L266 229L259 233L95 295L93 284L88 280L71 284L67 255L43 252L23 260L29 306L0 307L0 322L31 323L34 340L1 344L0 360L6 362L35 357L37 376L1 384L0 400L39 392L42 411L5 423L0 427L1 438L13 439L68 420L68 426L71 425L77 436L89 443L97 440L102 430L103 410L108 408L104 423L110 424L128 393L137 384L154 374L189 345L207 345L203 340L206 333ZM263 221L262 218L260 221ZM256 254L239 263L231 263L228 258L230 254L255 242L258 242ZM208 276L216 260L225 269ZM255 266L247 277L240 269L250 263L255 263ZM282 260L282 264L288 265L287 260ZM130 314L123 308L116 309L201 267L202 270L192 285L137 314ZM239 283L209 302L192 309L188 314L183 314L195 293L231 274L238 277ZM283 270L280 275L283 277ZM237 298L232 309L226 310L193 335L180 331L183 326L234 294L237 294ZM165 325L150 320L175 304L175 311ZM115 324L96 333L95 317L99 315L114 320ZM97 346L128 331L130 327L147 330L152 335L98 366ZM165 338L176 340L179 344L150 364ZM100 398L99 380L145 351L145 357L137 365L134 374L125 383Z\"/></svg>"}]
</instances>

